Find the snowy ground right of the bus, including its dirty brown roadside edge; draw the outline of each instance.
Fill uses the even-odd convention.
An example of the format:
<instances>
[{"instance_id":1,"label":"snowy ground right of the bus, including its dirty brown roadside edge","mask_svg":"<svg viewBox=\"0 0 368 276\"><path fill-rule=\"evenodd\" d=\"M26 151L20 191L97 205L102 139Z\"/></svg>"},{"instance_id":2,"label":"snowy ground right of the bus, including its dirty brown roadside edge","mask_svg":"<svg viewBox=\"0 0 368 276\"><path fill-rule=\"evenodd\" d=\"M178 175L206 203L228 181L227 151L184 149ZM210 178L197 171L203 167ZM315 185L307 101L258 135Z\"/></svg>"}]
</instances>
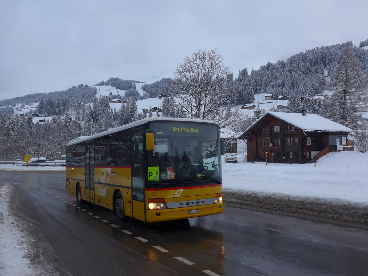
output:
<instances>
[{"instance_id":1,"label":"snowy ground right of the bus, including its dirty brown roadside edge","mask_svg":"<svg viewBox=\"0 0 368 276\"><path fill-rule=\"evenodd\" d=\"M368 153L315 164L223 164L224 201L368 224ZM243 158L244 160L244 158Z\"/></svg>"}]
</instances>

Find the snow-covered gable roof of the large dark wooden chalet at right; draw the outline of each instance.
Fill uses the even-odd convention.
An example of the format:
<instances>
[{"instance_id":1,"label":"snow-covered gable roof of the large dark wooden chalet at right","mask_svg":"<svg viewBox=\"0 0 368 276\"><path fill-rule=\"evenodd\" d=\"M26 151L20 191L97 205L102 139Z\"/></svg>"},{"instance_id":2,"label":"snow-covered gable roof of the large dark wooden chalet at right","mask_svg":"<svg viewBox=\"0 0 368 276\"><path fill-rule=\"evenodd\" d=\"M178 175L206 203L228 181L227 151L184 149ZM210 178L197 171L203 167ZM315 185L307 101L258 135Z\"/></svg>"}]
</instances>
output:
<instances>
[{"instance_id":1,"label":"snow-covered gable roof of the large dark wooden chalet at right","mask_svg":"<svg viewBox=\"0 0 368 276\"><path fill-rule=\"evenodd\" d=\"M267 112L257 121L255 121L250 127L248 127L241 135L242 137L247 132L253 131L257 127L258 123L262 121L266 116L275 117L285 123L294 125L303 131L329 131L329 132L352 132L348 127L342 124L335 123L317 114L309 114L303 116L302 113L286 113L286 112Z\"/></svg>"}]
</instances>

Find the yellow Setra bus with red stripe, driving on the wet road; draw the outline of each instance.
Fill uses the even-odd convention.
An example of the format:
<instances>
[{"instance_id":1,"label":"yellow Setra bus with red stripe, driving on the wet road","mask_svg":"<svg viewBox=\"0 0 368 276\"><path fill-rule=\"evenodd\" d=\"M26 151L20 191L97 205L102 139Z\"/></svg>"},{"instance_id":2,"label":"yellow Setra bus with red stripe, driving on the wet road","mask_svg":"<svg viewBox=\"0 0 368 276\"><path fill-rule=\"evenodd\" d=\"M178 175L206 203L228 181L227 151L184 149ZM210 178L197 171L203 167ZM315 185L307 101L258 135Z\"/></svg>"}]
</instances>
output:
<instances>
[{"instance_id":1,"label":"yellow Setra bus with red stripe, driving on the wet road","mask_svg":"<svg viewBox=\"0 0 368 276\"><path fill-rule=\"evenodd\" d=\"M222 213L219 125L145 118L68 142L66 191L120 220L160 222Z\"/></svg>"}]
</instances>

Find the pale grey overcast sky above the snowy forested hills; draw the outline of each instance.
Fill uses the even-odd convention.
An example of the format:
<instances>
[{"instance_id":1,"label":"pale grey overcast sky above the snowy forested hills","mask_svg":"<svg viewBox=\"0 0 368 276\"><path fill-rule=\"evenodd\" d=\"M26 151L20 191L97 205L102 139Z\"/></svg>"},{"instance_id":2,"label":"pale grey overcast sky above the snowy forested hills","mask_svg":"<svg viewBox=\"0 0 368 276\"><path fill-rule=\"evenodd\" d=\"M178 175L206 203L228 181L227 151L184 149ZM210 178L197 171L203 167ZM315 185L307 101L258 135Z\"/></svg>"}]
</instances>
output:
<instances>
[{"instance_id":1,"label":"pale grey overcast sky above the snowy forested hills","mask_svg":"<svg viewBox=\"0 0 368 276\"><path fill-rule=\"evenodd\" d=\"M0 99L157 77L201 48L217 48L236 77L315 47L358 46L367 11L366 0L0 0Z\"/></svg>"}]
</instances>

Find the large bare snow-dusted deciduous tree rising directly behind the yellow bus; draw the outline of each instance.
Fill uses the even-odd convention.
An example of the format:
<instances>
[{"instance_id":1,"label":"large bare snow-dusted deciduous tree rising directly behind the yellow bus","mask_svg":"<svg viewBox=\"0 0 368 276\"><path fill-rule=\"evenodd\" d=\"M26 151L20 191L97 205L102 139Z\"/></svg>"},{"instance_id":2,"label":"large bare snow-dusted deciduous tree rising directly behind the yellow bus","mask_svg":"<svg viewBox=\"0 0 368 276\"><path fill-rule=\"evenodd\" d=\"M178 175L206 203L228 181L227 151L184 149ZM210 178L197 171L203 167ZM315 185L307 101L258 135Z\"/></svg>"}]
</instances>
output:
<instances>
[{"instance_id":1,"label":"large bare snow-dusted deciduous tree rising directly behind the yellow bus","mask_svg":"<svg viewBox=\"0 0 368 276\"><path fill-rule=\"evenodd\" d=\"M226 127L239 121L242 114L231 109L231 94L224 93L229 67L217 49L199 50L174 71L173 103L178 117L211 120Z\"/></svg>"}]
</instances>

